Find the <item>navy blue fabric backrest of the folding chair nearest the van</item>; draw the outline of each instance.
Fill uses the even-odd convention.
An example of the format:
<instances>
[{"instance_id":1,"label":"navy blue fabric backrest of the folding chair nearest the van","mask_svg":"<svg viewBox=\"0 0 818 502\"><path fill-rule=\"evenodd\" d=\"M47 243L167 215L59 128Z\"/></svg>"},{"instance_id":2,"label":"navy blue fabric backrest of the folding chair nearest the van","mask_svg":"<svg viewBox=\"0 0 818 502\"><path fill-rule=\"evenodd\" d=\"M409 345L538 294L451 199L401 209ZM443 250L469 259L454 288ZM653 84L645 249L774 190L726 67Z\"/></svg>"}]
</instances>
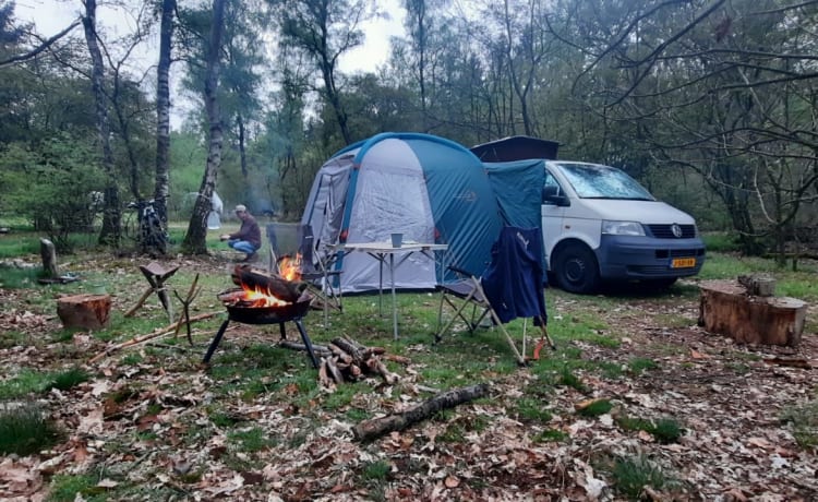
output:
<instances>
[{"instance_id":1,"label":"navy blue fabric backrest of the folding chair nearest the van","mask_svg":"<svg viewBox=\"0 0 818 502\"><path fill-rule=\"evenodd\" d=\"M481 284L500 320L546 319L539 228L504 227Z\"/></svg>"}]
</instances>

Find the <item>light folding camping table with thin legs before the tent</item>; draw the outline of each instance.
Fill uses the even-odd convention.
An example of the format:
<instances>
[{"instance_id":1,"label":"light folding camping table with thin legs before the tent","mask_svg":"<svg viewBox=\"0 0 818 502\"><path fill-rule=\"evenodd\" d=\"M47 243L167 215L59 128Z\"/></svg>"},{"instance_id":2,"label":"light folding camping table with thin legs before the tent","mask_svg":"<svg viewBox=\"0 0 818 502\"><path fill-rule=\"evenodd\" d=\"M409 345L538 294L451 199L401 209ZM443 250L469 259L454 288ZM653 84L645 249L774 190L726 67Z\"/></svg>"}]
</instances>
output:
<instances>
[{"instance_id":1,"label":"light folding camping table with thin legs before the tent","mask_svg":"<svg viewBox=\"0 0 818 502\"><path fill-rule=\"evenodd\" d=\"M420 252L426 256L432 258L436 261L437 251L446 251L448 244L434 244L424 242L404 242L400 248L393 248L392 242L360 242L360 243L345 243L335 244L329 247L332 249L332 255L336 259L340 255L346 255L352 251L365 252L370 256L378 261L378 285L377 285L377 301L378 312L383 315L383 290L384 290L384 263L388 256L389 262L389 278L392 283L392 319L393 319L393 332L395 339L398 339L398 300L395 294L395 268L400 266L412 253ZM400 254L400 259L395 261L395 255ZM434 254L430 254L434 253ZM324 268L326 270L326 267Z\"/></svg>"}]
</instances>

